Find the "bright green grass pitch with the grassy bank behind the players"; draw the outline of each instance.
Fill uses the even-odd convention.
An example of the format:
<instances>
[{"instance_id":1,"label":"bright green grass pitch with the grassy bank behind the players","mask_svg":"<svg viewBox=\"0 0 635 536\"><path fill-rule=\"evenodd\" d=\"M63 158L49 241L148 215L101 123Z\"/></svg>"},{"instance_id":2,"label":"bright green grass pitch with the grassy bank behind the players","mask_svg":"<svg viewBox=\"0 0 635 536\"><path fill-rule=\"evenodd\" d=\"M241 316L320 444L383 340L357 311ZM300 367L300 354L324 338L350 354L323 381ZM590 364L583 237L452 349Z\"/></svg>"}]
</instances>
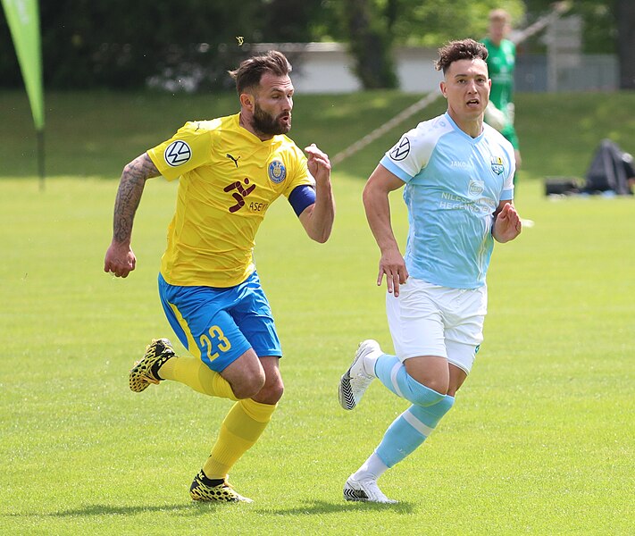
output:
<instances>
[{"instance_id":1,"label":"bright green grass pitch with the grassy bank behind the players","mask_svg":"<svg viewBox=\"0 0 635 536\"><path fill-rule=\"evenodd\" d=\"M296 138L334 154L416 98L340 96L327 107L329 97L298 97ZM146 187L138 270L118 280L102 267L117 187L106 179L203 115L209 99L52 96L44 191L22 99L0 93L0 533L635 532L635 201L556 202L541 183L581 176L603 137L632 150L635 121L616 111L632 109L634 96L522 96L517 205L536 224L497 245L479 358L439 430L383 477L400 500L389 507L346 503L341 487L406 405L376 384L349 414L336 389L360 339L391 348L359 199L393 139L334 173L338 218L327 244L306 239L284 202L272 206L256 260L287 389L263 440L231 472L255 503L198 505L188 486L230 403L170 382L140 395L127 386L149 339L171 336L155 277L174 185Z\"/></svg>"}]
</instances>

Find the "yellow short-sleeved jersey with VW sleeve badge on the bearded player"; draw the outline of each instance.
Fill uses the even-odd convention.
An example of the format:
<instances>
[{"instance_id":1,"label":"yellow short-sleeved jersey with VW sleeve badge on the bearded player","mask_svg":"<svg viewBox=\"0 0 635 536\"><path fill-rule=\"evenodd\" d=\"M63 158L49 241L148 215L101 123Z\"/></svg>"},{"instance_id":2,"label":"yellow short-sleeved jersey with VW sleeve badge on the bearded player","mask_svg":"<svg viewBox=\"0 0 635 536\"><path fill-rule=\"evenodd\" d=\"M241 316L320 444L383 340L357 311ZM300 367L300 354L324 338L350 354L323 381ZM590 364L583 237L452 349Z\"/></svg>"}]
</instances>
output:
<instances>
[{"instance_id":1,"label":"yellow short-sleeved jersey with VW sleeve badge on the bearded player","mask_svg":"<svg viewBox=\"0 0 635 536\"><path fill-rule=\"evenodd\" d=\"M269 206L313 185L306 157L287 136L262 141L239 113L188 121L147 151L167 180L179 178L176 213L161 259L165 281L233 287L255 271L255 233Z\"/></svg>"}]
</instances>

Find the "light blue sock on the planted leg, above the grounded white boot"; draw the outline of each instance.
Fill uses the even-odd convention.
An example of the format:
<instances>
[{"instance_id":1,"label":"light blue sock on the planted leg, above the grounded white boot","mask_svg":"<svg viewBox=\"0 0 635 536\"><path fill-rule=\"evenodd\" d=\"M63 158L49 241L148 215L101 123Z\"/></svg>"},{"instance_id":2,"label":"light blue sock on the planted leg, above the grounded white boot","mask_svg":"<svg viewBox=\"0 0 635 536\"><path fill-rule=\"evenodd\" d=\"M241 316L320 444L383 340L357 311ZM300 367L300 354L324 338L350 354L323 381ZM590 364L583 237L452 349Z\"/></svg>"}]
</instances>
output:
<instances>
[{"instance_id":1,"label":"light blue sock on the planted leg, above the grounded white boot","mask_svg":"<svg viewBox=\"0 0 635 536\"><path fill-rule=\"evenodd\" d=\"M375 453L386 466L396 465L426 440L454 403L446 395L432 406L410 406L390 424Z\"/></svg>"}]
</instances>

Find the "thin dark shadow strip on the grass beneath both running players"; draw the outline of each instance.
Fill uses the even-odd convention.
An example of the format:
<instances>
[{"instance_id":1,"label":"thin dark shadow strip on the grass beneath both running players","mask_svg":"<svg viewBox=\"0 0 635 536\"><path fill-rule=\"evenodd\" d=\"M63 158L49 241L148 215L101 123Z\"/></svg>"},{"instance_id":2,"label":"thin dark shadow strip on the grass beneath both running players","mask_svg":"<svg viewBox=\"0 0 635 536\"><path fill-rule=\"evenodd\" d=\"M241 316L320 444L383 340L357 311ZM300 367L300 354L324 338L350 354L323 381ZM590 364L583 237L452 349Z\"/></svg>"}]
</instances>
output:
<instances>
[{"instance_id":1,"label":"thin dark shadow strip on the grass beneath both running players","mask_svg":"<svg viewBox=\"0 0 635 536\"><path fill-rule=\"evenodd\" d=\"M135 506L135 507L114 507L111 505L89 505L81 508L71 508L69 510L62 510L60 512L52 512L47 514L48 517L82 517L92 515L138 515L146 512L177 512L184 515L205 515L210 512L215 512L219 508L232 508L232 507L246 507L253 508L255 505L246 505L244 503L237 504L224 504L224 503L180 503L175 505L162 505L162 506ZM414 506L407 502L397 503L394 505L380 505L376 503L340 503L329 502L324 500L306 500L304 503L297 507L289 508L266 508L256 507L257 512L260 514L269 515L323 515L323 514L338 514L340 512L350 512L352 510L390 510L397 514L411 514L414 510ZM13 516L21 517L20 514L13 514ZM29 516L29 515L26 515Z\"/></svg>"}]
</instances>

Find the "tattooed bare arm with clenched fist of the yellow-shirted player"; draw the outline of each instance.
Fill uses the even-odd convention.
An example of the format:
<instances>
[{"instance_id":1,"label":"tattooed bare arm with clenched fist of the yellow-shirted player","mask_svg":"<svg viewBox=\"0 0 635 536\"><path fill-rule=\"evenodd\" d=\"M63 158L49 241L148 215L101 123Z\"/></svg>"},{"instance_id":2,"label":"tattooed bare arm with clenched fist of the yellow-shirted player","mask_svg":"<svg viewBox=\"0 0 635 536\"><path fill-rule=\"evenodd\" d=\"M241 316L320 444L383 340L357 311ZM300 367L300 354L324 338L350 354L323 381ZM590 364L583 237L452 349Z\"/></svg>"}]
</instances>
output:
<instances>
[{"instance_id":1,"label":"tattooed bare arm with clenched fist of the yellow-shirted player","mask_svg":"<svg viewBox=\"0 0 635 536\"><path fill-rule=\"evenodd\" d=\"M146 180L160 175L147 153L138 156L121 173L117 198L114 202L113 241L104 259L104 272L128 277L135 269L137 258L130 247L132 222L143 194Z\"/></svg>"}]
</instances>

